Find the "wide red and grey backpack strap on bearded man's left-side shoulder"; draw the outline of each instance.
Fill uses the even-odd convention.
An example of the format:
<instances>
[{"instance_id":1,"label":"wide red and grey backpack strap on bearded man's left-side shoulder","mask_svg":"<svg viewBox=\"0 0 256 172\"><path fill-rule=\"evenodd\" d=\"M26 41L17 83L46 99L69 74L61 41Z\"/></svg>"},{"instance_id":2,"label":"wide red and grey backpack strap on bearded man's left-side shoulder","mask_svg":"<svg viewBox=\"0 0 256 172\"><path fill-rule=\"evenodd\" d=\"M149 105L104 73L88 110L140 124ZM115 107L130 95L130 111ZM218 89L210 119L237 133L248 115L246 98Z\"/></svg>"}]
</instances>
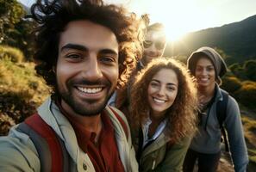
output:
<instances>
[{"instance_id":1,"label":"wide red and grey backpack strap on bearded man's left-side shoulder","mask_svg":"<svg viewBox=\"0 0 256 172\"><path fill-rule=\"evenodd\" d=\"M69 155L65 144L41 116L30 116L17 130L26 133L34 143L39 154L41 171L69 171Z\"/></svg>"}]
</instances>

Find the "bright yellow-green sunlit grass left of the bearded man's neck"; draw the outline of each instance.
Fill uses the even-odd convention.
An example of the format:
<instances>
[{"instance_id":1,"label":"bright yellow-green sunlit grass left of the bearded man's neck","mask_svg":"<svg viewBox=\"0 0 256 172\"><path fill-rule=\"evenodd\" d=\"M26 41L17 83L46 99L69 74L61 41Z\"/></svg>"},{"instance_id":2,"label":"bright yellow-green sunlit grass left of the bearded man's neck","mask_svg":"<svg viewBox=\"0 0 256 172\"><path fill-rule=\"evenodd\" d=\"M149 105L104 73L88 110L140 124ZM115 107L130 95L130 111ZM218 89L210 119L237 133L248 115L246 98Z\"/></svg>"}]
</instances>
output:
<instances>
[{"instance_id":1,"label":"bright yellow-green sunlit grass left of the bearded man's neck","mask_svg":"<svg viewBox=\"0 0 256 172\"><path fill-rule=\"evenodd\" d=\"M49 88L44 81L36 76L34 63L16 64L9 58L3 58L0 59L0 73L0 89L2 91L27 93L27 95L31 95L29 98L36 102L44 100L49 93Z\"/></svg>"}]
</instances>

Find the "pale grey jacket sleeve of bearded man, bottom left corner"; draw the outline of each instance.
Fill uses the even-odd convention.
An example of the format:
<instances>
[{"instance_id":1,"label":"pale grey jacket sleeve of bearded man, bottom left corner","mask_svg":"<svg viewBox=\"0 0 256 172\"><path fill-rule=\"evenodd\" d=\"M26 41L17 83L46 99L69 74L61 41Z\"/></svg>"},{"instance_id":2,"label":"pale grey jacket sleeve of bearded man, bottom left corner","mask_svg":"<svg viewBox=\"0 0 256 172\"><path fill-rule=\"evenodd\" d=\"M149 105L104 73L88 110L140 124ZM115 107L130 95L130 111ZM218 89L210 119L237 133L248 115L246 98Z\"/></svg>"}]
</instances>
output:
<instances>
[{"instance_id":1,"label":"pale grey jacket sleeve of bearded man, bottom left corner","mask_svg":"<svg viewBox=\"0 0 256 172\"><path fill-rule=\"evenodd\" d=\"M0 171L40 171L37 152L26 134L12 131L0 138Z\"/></svg>"}]
</instances>

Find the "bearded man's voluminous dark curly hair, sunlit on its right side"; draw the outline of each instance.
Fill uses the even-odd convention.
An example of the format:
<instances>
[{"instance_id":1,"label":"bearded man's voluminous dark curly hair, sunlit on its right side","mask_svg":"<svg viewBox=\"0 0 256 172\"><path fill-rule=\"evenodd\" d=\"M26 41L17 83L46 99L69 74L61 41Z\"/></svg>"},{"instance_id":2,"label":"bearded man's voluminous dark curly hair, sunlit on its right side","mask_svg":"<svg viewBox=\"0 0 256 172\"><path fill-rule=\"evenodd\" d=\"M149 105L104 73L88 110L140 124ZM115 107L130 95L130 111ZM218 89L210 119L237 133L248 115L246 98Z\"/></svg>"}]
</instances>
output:
<instances>
[{"instance_id":1,"label":"bearded man's voluminous dark curly hair, sunlit on its right side","mask_svg":"<svg viewBox=\"0 0 256 172\"><path fill-rule=\"evenodd\" d=\"M102 0L38 0L31 7L30 18L38 23L35 28L35 70L56 92L53 66L57 63L59 35L72 21L88 20L109 28L119 43L119 80L121 88L141 56L138 39L139 22L136 16L122 7L104 4Z\"/></svg>"}]
</instances>

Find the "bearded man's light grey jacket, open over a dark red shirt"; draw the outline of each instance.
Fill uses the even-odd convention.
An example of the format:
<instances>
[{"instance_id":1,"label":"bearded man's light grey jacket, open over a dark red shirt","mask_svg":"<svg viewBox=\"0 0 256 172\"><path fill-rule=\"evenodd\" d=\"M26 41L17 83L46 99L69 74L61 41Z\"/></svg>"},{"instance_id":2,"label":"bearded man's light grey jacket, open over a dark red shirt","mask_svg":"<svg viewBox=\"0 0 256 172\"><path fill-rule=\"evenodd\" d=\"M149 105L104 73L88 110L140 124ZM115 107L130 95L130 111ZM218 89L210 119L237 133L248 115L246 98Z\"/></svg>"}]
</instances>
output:
<instances>
[{"instance_id":1,"label":"bearded man's light grey jacket, open over a dark red shirt","mask_svg":"<svg viewBox=\"0 0 256 172\"><path fill-rule=\"evenodd\" d=\"M109 107L106 107L104 110L109 114L109 118L115 128L116 144L125 171L138 171L130 134L127 139L122 125L116 119L116 115L113 114ZM76 134L71 124L59 112L59 108L50 98L38 108L38 114L65 143L66 150L72 159L72 162L70 162L71 171L95 171L90 157L79 148ZM119 114L122 113L120 112ZM128 126L125 117L123 115L121 117ZM41 163L34 144L28 138L28 135L18 132L16 127L14 126L10 130L8 137L0 138L0 171L41 171Z\"/></svg>"}]
</instances>

